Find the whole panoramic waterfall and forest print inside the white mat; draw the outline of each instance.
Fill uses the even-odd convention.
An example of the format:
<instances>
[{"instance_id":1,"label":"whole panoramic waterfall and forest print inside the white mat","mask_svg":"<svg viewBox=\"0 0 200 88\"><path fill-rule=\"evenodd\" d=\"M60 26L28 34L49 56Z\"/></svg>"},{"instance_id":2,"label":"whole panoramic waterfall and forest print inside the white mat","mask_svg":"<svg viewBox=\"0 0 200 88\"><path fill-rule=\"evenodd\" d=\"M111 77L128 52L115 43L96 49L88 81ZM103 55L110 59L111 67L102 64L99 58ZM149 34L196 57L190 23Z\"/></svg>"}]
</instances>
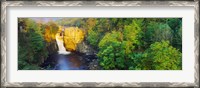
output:
<instances>
[{"instance_id":1,"label":"whole panoramic waterfall and forest print inside the white mat","mask_svg":"<svg viewBox=\"0 0 200 88\"><path fill-rule=\"evenodd\" d=\"M18 70L182 70L182 18L18 18Z\"/></svg>"}]
</instances>

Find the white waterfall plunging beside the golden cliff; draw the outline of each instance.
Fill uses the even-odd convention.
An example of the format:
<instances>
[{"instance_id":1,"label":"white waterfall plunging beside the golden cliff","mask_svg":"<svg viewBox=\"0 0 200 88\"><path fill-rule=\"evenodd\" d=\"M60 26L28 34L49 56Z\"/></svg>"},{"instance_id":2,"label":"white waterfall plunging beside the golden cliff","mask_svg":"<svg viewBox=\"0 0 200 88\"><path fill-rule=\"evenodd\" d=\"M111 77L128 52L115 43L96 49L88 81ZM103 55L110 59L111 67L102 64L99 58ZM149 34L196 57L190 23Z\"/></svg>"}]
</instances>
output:
<instances>
[{"instance_id":1,"label":"white waterfall plunging beside the golden cliff","mask_svg":"<svg viewBox=\"0 0 200 88\"><path fill-rule=\"evenodd\" d=\"M58 54L70 54L70 52L66 51L66 49L64 47L63 35L61 35L60 33L57 33L56 34L56 42L58 45Z\"/></svg>"}]
</instances>

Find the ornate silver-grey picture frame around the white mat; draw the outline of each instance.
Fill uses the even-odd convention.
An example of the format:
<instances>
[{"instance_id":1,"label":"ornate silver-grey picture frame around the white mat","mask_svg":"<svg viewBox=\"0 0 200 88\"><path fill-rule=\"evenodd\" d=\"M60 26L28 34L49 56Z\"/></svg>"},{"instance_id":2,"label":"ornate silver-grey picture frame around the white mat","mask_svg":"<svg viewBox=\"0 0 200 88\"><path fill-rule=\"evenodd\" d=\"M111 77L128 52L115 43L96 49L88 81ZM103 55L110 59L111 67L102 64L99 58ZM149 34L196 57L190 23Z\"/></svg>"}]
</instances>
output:
<instances>
[{"instance_id":1,"label":"ornate silver-grey picture frame around the white mat","mask_svg":"<svg viewBox=\"0 0 200 88\"><path fill-rule=\"evenodd\" d=\"M2 1L1 4L1 87L199 87L199 1ZM194 6L195 82L7 82L6 8L8 6Z\"/></svg>"}]
</instances>

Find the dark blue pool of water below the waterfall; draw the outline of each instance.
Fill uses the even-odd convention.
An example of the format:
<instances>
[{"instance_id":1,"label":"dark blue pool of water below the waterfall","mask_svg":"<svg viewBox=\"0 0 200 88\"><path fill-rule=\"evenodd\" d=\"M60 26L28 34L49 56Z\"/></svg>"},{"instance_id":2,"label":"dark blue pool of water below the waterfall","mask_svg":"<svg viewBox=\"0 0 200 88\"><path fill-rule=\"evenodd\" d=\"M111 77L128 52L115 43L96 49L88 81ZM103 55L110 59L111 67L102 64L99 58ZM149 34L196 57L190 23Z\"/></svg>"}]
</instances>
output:
<instances>
[{"instance_id":1,"label":"dark blue pool of water below the waterfall","mask_svg":"<svg viewBox=\"0 0 200 88\"><path fill-rule=\"evenodd\" d=\"M45 70L88 70L82 54L75 52L67 55L59 53L49 55L41 67Z\"/></svg>"}]
</instances>

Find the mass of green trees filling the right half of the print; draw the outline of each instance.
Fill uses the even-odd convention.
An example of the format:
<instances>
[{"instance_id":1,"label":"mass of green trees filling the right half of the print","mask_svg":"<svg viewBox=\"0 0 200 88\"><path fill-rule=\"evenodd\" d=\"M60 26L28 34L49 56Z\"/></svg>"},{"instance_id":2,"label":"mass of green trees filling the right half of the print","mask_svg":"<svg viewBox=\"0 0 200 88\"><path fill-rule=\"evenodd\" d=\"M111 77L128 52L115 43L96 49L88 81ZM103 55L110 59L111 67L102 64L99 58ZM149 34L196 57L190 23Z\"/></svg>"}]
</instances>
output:
<instances>
[{"instance_id":1,"label":"mass of green trees filling the right half of the print","mask_svg":"<svg viewBox=\"0 0 200 88\"><path fill-rule=\"evenodd\" d=\"M116 19L112 20L115 23ZM172 28L167 23L169 20L173 19L133 19L131 23L129 21L129 24L123 26L123 30L113 29L116 31L111 33L109 30L103 31L106 34L98 44L100 65L104 69L181 69L179 48L170 46L174 43L174 36ZM181 30L181 27L178 30ZM179 36L180 34L181 32L176 32L174 35ZM180 36L177 39L181 40ZM150 49L146 49L148 46ZM154 47L160 49L151 50ZM156 55L159 56L159 54L160 56L165 55L160 58L162 64L156 62L158 59Z\"/></svg>"}]
</instances>

